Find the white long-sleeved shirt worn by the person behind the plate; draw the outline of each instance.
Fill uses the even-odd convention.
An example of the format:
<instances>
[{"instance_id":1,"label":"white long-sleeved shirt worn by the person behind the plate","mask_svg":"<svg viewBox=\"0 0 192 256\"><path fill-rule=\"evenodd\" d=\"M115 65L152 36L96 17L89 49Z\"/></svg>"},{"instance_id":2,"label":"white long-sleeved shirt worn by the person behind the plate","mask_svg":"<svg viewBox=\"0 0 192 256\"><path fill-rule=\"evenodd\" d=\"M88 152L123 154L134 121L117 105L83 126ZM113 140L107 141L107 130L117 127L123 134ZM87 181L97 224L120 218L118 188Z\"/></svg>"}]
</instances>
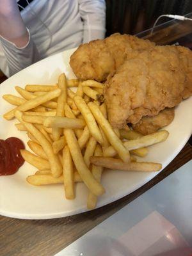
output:
<instances>
[{"instance_id":1,"label":"white long-sleeved shirt worn by the person behind the plate","mask_svg":"<svg viewBox=\"0 0 192 256\"><path fill-rule=\"evenodd\" d=\"M0 69L12 76L42 58L105 35L104 0L33 0L21 12L29 42L19 48L0 36Z\"/></svg>"}]
</instances>

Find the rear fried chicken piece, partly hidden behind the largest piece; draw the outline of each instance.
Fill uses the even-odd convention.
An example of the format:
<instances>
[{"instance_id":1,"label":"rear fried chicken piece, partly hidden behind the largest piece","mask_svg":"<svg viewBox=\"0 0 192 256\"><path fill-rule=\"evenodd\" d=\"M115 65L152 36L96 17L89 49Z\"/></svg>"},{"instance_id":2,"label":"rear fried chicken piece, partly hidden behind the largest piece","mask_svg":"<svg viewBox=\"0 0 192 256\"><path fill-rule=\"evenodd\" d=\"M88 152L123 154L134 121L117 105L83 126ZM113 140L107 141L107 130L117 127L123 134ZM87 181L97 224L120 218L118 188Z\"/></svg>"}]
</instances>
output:
<instances>
[{"instance_id":1,"label":"rear fried chicken piece, partly hidden behind the largest piece","mask_svg":"<svg viewBox=\"0 0 192 256\"><path fill-rule=\"evenodd\" d=\"M80 45L70 56L70 67L81 80L105 81L131 56L130 50L148 50L154 43L136 36L116 33L104 40L94 40Z\"/></svg>"}]
</instances>

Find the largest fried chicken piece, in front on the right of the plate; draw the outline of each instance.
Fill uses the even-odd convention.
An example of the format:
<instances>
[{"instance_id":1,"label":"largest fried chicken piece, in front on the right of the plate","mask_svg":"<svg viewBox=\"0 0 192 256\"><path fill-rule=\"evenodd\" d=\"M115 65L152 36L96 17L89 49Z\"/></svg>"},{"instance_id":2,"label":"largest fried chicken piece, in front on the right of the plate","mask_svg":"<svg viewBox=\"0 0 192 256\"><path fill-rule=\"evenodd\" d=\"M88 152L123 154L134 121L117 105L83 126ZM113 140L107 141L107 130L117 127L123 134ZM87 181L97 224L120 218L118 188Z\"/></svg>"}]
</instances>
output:
<instances>
[{"instance_id":1,"label":"largest fried chicken piece, in front on the right of the plate","mask_svg":"<svg viewBox=\"0 0 192 256\"><path fill-rule=\"evenodd\" d=\"M143 116L156 116L164 108L173 108L189 97L191 60L191 51L184 55L170 45L132 51L132 57L108 76L105 83L111 125L123 128L127 122L136 124Z\"/></svg>"}]
</instances>

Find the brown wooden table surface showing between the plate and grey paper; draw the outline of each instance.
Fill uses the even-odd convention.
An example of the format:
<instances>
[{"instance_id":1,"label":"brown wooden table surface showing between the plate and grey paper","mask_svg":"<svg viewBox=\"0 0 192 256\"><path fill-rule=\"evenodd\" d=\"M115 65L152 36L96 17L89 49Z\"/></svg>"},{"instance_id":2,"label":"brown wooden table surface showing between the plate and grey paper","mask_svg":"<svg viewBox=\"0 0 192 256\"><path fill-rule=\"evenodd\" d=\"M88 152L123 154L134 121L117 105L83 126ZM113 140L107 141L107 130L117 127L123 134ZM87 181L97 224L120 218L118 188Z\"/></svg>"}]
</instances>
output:
<instances>
[{"instance_id":1,"label":"brown wooden table surface showing between the plate and grey paper","mask_svg":"<svg viewBox=\"0 0 192 256\"><path fill-rule=\"evenodd\" d=\"M180 28L182 28L182 26L180 26ZM175 26L169 28L168 31L163 31L163 33L166 33L168 38L167 42L169 43L172 37L170 31L174 31L175 33ZM182 35L181 39L183 39L183 36L189 35L191 31L192 28L185 29L184 33L179 33L179 36L174 35L172 38L179 40L180 35ZM159 36L157 33L155 36L159 42L161 32ZM152 40L151 37L150 39ZM4 79L6 79L6 77L0 74L0 83L3 82ZM166 178L170 173L174 172L191 159L192 147L188 142L177 157L173 159L172 163L154 179L150 180L150 182L130 195L94 211L54 220L17 220L0 216L0 255L51 256L60 252L60 250L65 248L68 244L83 236L88 230L129 204L132 200L152 188L152 186L156 185L159 181Z\"/></svg>"}]
</instances>

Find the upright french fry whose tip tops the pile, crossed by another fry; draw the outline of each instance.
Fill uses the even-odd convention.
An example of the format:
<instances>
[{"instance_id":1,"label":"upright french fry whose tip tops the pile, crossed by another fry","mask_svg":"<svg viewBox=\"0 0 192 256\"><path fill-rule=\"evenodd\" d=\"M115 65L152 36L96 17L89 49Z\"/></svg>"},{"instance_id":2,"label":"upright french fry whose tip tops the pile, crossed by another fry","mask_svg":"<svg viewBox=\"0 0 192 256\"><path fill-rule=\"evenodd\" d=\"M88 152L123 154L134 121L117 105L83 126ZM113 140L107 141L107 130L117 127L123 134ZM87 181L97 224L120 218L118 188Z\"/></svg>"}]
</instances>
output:
<instances>
[{"instance_id":1,"label":"upright french fry whose tip tops the pile, crossed by another fry","mask_svg":"<svg viewBox=\"0 0 192 256\"><path fill-rule=\"evenodd\" d=\"M65 116L65 104L67 102L67 81L65 74L61 74L58 79L58 87L61 89L61 94L58 97L58 105L56 108L56 116ZM52 136L54 141L59 140L62 129L58 127L52 128Z\"/></svg>"}]
</instances>

